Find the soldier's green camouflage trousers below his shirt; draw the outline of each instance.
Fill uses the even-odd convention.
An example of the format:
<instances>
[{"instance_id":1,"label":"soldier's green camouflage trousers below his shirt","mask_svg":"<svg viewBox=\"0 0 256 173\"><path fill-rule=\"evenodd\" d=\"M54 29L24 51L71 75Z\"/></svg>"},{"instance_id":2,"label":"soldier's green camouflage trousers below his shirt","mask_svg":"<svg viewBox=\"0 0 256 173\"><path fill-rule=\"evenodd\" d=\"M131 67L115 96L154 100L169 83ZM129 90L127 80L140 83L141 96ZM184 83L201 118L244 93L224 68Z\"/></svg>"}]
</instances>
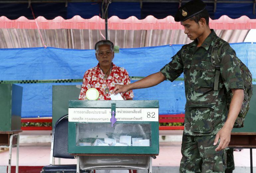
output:
<instances>
[{"instance_id":1,"label":"soldier's green camouflage trousers below his shirt","mask_svg":"<svg viewBox=\"0 0 256 173\"><path fill-rule=\"evenodd\" d=\"M226 169L226 150L215 151L213 136L182 137L182 159L180 173L224 173Z\"/></svg>"}]
</instances>

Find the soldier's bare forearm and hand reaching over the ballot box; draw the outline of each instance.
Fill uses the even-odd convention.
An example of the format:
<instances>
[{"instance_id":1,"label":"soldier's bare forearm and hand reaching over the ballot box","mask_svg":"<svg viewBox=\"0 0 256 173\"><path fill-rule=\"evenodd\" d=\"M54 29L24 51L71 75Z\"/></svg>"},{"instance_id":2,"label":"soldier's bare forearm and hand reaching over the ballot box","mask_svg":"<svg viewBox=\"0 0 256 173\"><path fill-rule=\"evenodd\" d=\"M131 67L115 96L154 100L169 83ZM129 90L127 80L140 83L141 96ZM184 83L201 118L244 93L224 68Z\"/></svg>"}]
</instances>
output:
<instances>
[{"instance_id":1,"label":"soldier's bare forearm and hand reaching over the ballot box","mask_svg":"<svg viewBox=\"0 0 256 173\"><path fill-rule=\"evenodd\" d=\"M148 88L156 86L164 80L166 80L166 77L161 72L157 72L129 85L116 85L112 93L117 94L132 89Z\"/></svg>"}]
</instances>

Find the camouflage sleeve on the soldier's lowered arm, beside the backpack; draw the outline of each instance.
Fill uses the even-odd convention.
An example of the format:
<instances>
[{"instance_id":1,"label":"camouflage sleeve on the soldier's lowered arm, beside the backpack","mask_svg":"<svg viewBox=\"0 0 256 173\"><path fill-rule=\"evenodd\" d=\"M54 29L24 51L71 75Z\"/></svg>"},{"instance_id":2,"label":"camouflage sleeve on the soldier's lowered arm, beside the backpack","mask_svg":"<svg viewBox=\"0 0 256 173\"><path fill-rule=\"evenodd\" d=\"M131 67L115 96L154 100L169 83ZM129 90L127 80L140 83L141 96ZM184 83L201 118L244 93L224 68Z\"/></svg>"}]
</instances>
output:
<instances>
[{"instance_id":1,"label":"camouflage sleeve on the soldier's lowered arm, beside the backpack","mask_svg":"<svg viewBox=\"0 0 256 173\"><path fill-rule=\"evenodd\" d=\"M227 91L244 89L238 58L229 44L224 45L221 50L220 74Z\"/></svg>"}]
</instances>

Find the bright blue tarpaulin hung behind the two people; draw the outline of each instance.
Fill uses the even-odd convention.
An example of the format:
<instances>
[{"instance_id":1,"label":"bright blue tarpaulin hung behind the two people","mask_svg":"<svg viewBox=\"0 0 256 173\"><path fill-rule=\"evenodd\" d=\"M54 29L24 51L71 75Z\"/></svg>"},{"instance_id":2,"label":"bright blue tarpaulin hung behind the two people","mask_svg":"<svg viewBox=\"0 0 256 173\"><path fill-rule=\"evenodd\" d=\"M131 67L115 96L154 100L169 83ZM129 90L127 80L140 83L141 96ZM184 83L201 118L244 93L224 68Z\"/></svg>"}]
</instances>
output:
<instances>
[{"instance_id":1,"label":"bright blue tarpaulin hung behind the two people","mask_svg":"<svg viewBox=\"0 0 256 173\"><path fill-rule=\"evenodd\" d=\"M230 44L256 78L256 43ZM129 76L146 77L158 72L182 45L120 49L114 64L124 67ZM0 80L82 79L97 65L94 50L53 47L0 49ZM183 77L183 75L181 76ZM134 81L132 81L134 82ZM23 86L22 118L52 116L52 86L81 83L18 84ZM160 114L184 113L183 81L164 81L158 86L134 90L134 100L159 100ZM78 95L77 95L78 97Z\"/></svg>"}]
</instances>

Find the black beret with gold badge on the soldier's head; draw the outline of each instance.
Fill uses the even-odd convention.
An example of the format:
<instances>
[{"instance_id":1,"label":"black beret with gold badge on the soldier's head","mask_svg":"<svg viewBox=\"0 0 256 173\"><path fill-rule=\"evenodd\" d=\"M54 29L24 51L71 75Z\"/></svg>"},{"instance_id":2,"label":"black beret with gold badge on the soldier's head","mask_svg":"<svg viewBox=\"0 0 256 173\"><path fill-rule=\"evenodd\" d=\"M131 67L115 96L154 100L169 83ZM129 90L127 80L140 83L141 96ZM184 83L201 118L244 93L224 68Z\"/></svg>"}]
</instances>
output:
<instances>
[{"instance_id":1,"label":"black beret with gold badge on the soldier's head","mask_svg":"<svg viewBox=\"0 0 256 173\"><path fill-rule=\"evenodd\" d=\"M186 21L194 15L202 12L206 4L201 0L192 0L184 4L177 11L174 20L175 22Z\"/></svg>"}]
</instances>

